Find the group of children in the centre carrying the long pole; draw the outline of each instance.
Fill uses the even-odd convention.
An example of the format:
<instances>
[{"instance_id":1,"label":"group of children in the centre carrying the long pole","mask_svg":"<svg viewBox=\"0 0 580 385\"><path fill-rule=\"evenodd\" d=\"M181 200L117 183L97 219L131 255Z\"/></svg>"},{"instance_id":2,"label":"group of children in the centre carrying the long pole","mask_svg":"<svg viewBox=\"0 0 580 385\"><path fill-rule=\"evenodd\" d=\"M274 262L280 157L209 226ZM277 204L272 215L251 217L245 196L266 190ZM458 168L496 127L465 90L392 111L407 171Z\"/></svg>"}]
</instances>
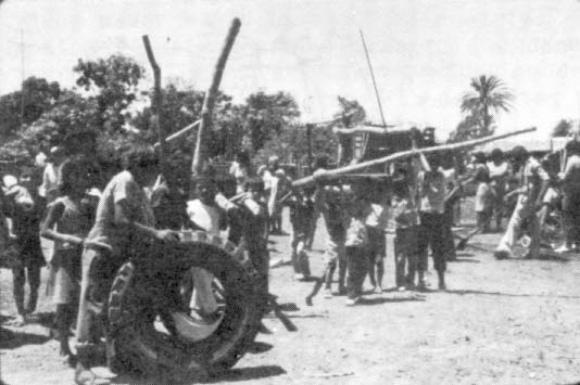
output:
<instances>
[{"instance_id":1,"label":"group of children in the centre carrying the long pole","mask_svg":"<svg viewBox=\"0 0 580 385\"><path fill-rule=\"evenodd\" d=\"M315 166L315 180L321 181L326 163L318 159ZM393 179L364 176L338 178L332 182L325 179L316 190L294 191L287 202L293 230L294 279L302 281L310 277L305 242L312 222L321 215L328 235L325 297L332 297L332 275L337 268L338 294L346 295L346 305L361 300L366 275L373 291L382 292L389 221L395 231L398 288L427 290L430 247L438 286L445 290L446 261L454 256L452 223L447 219L452 215L447 210L458 196L457 191L455 172L442 167L441 156L433 155L427 161L419 153L416 162L402 165Z\"/></svg>"}]
</instances>

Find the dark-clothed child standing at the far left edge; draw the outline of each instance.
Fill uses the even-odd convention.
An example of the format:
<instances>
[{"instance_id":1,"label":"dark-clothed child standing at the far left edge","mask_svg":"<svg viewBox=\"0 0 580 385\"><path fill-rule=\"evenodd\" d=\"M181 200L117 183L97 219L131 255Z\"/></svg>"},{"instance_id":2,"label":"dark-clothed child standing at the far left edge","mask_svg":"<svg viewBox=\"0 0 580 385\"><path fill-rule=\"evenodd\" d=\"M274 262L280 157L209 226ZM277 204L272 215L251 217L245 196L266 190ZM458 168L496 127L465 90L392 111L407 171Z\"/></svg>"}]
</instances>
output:
<instances>
[{"instance_id":1,"label":"dark-clothed child standing at the far left edge","mask_svg":"<svg viewBox=\"0 0 580 385\"><path fill-rule=\"evenodd\" d=\"M13 176L3 178L7 214L12 219L12 234L15 238L20 264L12 268L14 301L18 312L17 325L26 323L26 317L36 310L40 269L46 265L38 236L37 206L28 190L18 184ZM28 281L28 304L24 306L24 285Z\"/></svg>"}]
</instances>

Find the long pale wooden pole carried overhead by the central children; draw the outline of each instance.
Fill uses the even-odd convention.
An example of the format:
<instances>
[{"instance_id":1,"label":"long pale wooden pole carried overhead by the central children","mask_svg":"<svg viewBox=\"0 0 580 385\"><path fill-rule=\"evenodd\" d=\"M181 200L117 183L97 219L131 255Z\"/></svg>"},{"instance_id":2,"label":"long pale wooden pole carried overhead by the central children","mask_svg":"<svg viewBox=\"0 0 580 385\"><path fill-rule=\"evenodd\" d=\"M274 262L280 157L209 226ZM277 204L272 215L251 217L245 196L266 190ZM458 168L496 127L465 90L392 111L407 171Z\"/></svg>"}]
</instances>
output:
<instances>
[{"instance_id":1,"label":"long pale wooden pole carried overhead by the central children","mask_svg":"<svg viewBox=\"0 0 580 385\"><path fill-rule=\"evenodd\" d=\"M303 187L303 185L306 185L306 184L312 184L312 183L314 183L314 182L316 182L318 180L324 180L326 177L335 177L335 176L339 176L339 175L342 175L342 174L360 171L360 170L363 170L363 169L365 169L367 167L373 167L373 166L377 166L377 165L382 165L382 164L388 164L388 163L393 163L393 162L396 162L396 161L402 161L402 159L405 159L405 158L409 158L409 157L416 156L419 153L430 154L430 153L437 153L437 152L441 152L441 151L452 151L452 150L459 150L459 149L465 149L465 147L474 147L476 145L480 145L480 144L493 142L493 141L496 141L496 140L500 140L500 139L514 137L514 136L518 136L518 134L526 133L526 132L532 132L532 131L535 131L535 127L526 128L526 129L521 129L521 130L517 130L517 131L513 131L513 132L507 132L507 133L502 133L502 134L497 134L497 136L481 138L481 139L468 140L468 141L461 142L461 143L436 145L436 146L432 146L432 147L426 147L426 149L420 149L420 150L402 151L402 152L399 152L399 153L395 153L395 154L391 154L389 156L380 157L378 159L373 159L373 161L358 163L356 165L350 165L350 166L345 166L345 167L340 167L340 168L336 168L333 170L324 171L324 172L321 172L319 175L316 175L316 176L310 176L310 177L305 177L305 178L302 178L302 179L298 179L294 182L292 182L292 187L293 188L298 188L298 187Z\"/></svg>"}]
</instances>

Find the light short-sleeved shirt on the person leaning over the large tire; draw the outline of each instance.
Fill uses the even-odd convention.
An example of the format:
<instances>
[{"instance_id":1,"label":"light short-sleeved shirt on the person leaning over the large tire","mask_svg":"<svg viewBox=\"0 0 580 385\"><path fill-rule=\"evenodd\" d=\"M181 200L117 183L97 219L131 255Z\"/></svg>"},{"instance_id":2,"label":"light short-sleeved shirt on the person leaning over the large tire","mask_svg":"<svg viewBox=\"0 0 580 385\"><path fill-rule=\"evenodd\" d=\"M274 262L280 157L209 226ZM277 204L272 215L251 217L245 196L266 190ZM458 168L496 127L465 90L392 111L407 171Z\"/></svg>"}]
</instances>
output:
<instances>
[{"instance_id":1,"label":"light short-sleeved shirt on the person leaning over the large tire","mask_svg":"<svg viewBox=\"0 0 580 385\"><path fill-rule=\"evenodd\" d=\"M111 179L99 200L94 224L87 242L110 245L113 254L125 253L147 242L134 234L129 227L115 222L116 204L125 201L128 206L126 217L134 222L154 227L155 217L144 190L137 184L129 171L122 171Z\"/></svg>"}]
</instances>

